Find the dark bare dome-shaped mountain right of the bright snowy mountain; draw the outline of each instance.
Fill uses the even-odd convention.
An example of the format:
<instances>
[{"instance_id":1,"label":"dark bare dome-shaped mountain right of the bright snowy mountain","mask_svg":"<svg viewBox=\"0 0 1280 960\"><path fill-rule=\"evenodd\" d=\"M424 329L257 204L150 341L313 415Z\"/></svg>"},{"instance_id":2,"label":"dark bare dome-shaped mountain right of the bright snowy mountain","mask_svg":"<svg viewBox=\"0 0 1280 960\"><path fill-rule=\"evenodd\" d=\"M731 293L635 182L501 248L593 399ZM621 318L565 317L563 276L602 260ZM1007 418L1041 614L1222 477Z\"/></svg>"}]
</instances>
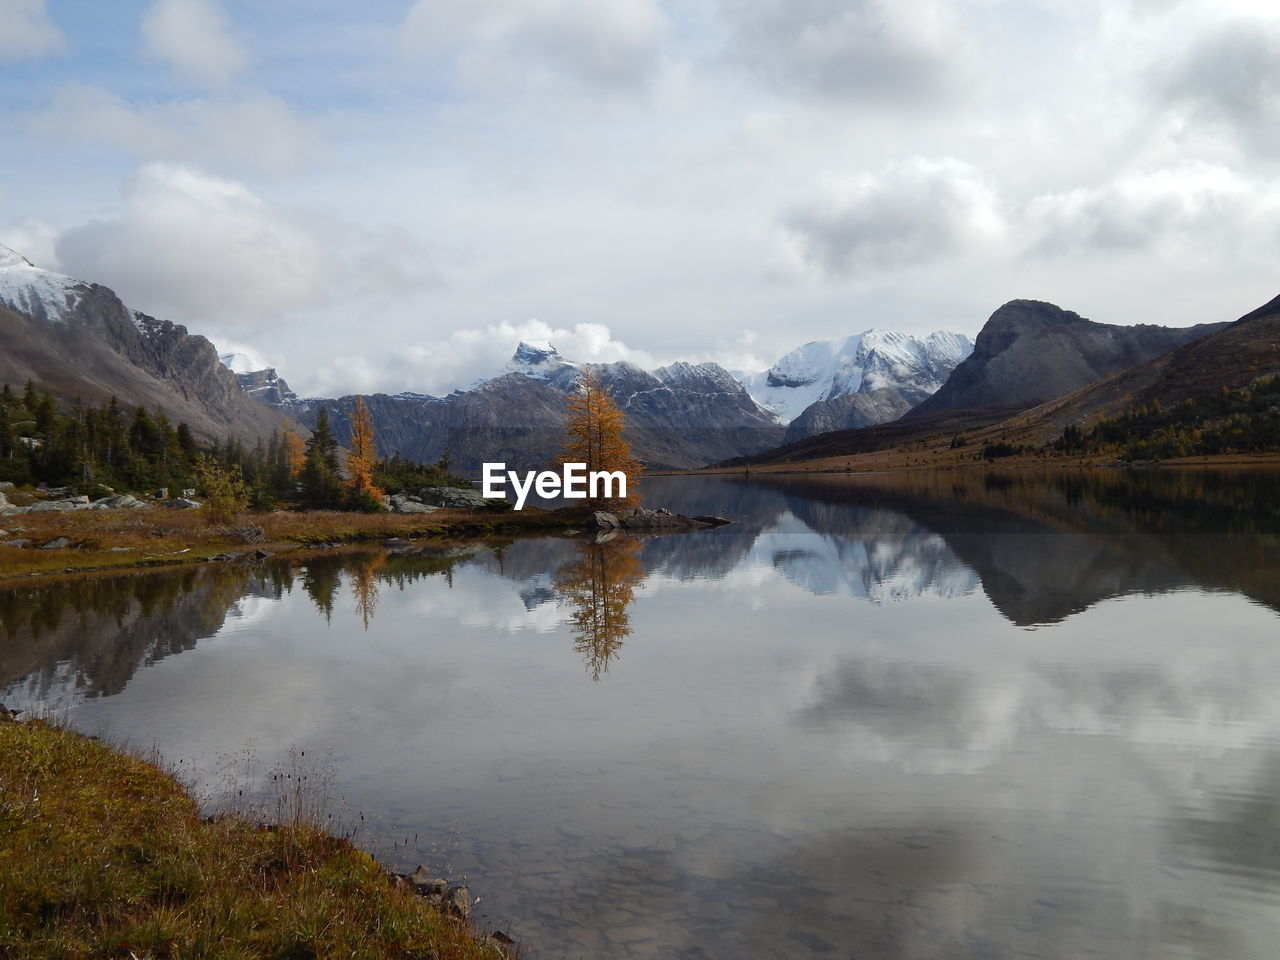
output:
<instances>
[{"instance_id":1,"label":"dark bare dome-shaped mountain right of the bright snowy mountain","mask_svg":"<svg viewBox=\"0 0 1280 960\"><path fill-rule=\"evenodd\" d=\"M1224 324L1117 326L1052 303L1014 300L987 320L973 353L909 416L995 406L1032 407L1144 364Z\"/></svg>"}]
</instances>

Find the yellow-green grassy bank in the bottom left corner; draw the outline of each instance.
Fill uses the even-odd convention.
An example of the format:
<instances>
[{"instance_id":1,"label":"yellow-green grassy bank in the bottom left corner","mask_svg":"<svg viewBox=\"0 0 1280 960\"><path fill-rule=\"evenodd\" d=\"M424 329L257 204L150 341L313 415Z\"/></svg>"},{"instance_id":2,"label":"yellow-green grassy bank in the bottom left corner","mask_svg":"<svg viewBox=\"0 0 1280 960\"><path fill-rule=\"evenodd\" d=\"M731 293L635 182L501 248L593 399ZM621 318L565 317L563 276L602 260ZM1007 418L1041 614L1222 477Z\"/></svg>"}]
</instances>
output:
<instances>
[{"instance_id":1,"label":"yellow-green grassy bank in the bottom left corner","mask_svg":"<svg viewBox=\"0 0 1280 960\"><path fill-rule=\"evenodd\" d=\"M504 957L306 823L201 819L156 765L0 718L0 957Z\"/></svg>"}]
</instances>

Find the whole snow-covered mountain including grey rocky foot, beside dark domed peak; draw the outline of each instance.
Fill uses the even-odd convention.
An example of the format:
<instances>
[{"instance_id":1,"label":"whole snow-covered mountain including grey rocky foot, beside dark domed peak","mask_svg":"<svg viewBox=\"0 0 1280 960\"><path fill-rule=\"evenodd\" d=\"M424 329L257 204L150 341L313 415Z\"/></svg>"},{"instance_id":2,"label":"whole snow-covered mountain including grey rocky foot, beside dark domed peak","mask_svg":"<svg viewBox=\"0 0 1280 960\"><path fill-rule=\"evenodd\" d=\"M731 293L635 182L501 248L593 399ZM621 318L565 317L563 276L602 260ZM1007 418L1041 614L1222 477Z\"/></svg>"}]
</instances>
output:
<instances>
[{"instance_id":1,"label":"whole snow-covered mountain including grey rocky foot, beside dark domed peak","mask_svg":"<svg viewBox=\"0 0 1280 960\"><path fill-rule=\"evenodd\" d=\"M786 439L794 442L896 420L941 388L972 352L973 343L957 333L916 338L872 329L813 340L741 380L760 406L790 425Z\"/></svg>"}]
</instances>

